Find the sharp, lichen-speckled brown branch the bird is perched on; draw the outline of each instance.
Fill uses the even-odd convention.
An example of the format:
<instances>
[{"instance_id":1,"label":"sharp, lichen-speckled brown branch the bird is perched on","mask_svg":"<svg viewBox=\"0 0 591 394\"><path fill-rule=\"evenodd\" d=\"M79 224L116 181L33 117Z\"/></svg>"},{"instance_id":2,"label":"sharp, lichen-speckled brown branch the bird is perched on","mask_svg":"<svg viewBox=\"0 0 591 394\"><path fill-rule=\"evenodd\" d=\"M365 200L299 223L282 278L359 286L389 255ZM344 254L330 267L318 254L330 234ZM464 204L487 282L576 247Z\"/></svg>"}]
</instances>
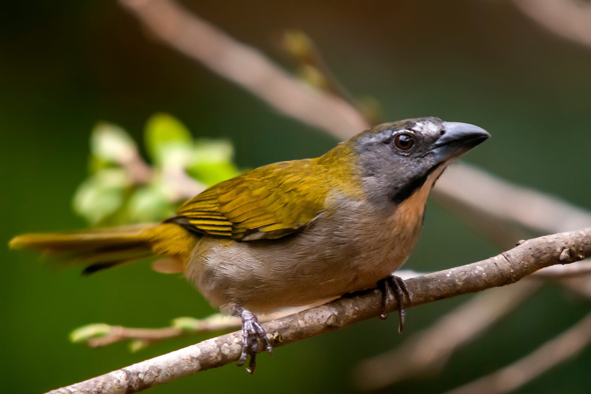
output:
<instances>
[{"instance_id":1,"label":"sharp, lichen-speckled brown branch the bird is perched on","mask_svg":"<svg viewBox=\"0 0 591 394\"><path fill-rule=\"evenodd\" d=\"M564 253L565 249L570 249L570 253ZM408 279L412 297L405 300L405 305L413 307L511 284L546 266L588 256L591 256L591 228L531 239L480 262ZM392 311L397 308L397 303L392 302ZM264 323L263 327L268 333L281 334L271 338L274 346L279 347L376 317L381 312L381 293L372 289ZM138 392L235 362L241 353L241 341L242 334L236 331L50 393Z\"/></svg>"}]
</instances>

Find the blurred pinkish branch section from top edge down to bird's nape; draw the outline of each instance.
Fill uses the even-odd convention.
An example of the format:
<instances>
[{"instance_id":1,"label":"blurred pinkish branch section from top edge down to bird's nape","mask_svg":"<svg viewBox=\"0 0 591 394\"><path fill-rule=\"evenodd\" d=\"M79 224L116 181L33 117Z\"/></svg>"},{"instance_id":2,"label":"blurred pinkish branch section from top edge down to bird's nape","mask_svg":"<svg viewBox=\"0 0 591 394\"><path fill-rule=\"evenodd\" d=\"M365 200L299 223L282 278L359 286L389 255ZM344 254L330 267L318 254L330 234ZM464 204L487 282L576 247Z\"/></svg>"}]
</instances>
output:
<instances>
[{"instance_id":1,"label":"blurred pinkish branch section from top edge down to bird's nape","mask_svg":"<svg viewBox=\"0 0 591 394\"><path fill-rule=\"evenodd\" d=\"M173 48L200 61L285 115L349 138L369 128L345 100L314 90L275 66L255 48L239 43L168 0L121 0Z\"/></svg>"}]
</instances>

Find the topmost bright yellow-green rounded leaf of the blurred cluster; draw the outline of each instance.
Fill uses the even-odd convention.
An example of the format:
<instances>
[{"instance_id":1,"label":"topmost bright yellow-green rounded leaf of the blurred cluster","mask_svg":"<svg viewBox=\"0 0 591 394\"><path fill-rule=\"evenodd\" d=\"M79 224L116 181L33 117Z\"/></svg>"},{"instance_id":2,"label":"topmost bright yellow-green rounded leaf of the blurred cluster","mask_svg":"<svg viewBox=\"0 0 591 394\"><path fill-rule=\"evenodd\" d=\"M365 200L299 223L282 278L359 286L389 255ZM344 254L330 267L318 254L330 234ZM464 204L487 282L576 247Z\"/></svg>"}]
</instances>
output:
<instances>
[{"instance_id":1,"label":"topmost bright yellow-green rounded leaf of the blurred cluster","mask_svg":"<svg viewBox=\"0 0 591 394\"><path fill-rule=\"evenodd\" d=\"M158 167L185 167L190 162L193 137L189 129L167 113L157 113L148 119L145 128L148 154Z\"/></svg>"}]
</instances>

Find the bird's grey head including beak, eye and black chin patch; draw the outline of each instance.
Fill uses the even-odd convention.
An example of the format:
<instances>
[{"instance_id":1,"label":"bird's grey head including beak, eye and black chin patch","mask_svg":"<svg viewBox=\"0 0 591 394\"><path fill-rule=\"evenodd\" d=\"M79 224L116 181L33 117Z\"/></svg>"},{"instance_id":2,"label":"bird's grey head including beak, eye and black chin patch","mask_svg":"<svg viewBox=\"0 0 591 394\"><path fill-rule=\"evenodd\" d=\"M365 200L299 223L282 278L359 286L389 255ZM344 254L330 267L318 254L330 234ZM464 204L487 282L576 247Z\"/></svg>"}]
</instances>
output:
<instances>
[{"instance_id":1,"label":"bird's grey head including beak, eye and black chin patch","mask_svg":"<svg viewBox=\"0 0 591 394\"><path fill-rule=\"evenodd\" d=\"M489 136L467 123L417 118L375 126L349 143L358 155L369 200L391 206L423 186L430 188L447 164Z\"/></svg>"}]
</instances>

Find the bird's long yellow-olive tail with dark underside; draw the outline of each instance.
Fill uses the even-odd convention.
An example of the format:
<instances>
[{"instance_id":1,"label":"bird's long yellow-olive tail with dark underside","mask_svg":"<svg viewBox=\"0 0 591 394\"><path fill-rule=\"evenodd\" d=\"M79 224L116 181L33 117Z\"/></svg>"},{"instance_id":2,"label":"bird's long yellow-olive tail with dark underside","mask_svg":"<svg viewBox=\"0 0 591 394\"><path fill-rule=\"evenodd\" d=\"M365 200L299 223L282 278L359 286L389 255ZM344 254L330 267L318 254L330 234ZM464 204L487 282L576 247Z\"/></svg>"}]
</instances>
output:
<instances>
[{"instance_id":1,"label":"bird's long yellow-olive tail with dark underside","mask_svg":"<svg viewBox=\"0 0 591 394\"><path fill-rule=\"evenodd\" d=\"M33 249L53 257L60 265L86 265L93 273L115 265L154 255L154 230L162 224L138 224L72 233L25 234L14 237L9 246Z\"/></svg>"}]
</instances>

